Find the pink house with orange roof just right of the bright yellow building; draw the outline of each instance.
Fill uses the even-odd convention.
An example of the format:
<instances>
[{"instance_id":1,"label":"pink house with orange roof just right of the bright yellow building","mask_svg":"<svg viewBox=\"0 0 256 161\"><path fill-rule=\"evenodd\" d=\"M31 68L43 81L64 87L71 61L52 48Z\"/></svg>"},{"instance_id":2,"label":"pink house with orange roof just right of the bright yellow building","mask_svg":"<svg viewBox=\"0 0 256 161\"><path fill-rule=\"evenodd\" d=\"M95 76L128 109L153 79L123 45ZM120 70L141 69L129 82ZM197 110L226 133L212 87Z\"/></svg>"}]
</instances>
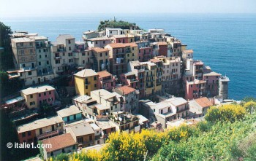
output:
<instances>
[{"instance_id":1,"label":"pink house with orange roof just right of the bright yellow building","mask_svg":"<svg viewBox=\"0 0 256 161\"><path fill-rule=\"evenodd\" d=\"M99 71L99 87L108 91L111 91L116 87L116 78L108 71Z\"/></svg>"}]
</instances>

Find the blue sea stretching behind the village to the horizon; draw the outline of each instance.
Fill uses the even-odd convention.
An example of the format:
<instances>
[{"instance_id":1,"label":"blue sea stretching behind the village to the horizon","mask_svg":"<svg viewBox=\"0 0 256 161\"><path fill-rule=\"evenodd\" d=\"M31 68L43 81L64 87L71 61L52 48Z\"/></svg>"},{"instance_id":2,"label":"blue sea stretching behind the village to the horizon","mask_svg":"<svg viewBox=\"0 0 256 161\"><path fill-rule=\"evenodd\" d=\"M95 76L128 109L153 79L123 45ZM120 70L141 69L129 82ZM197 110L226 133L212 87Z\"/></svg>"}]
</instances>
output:
<instances>
[{"instance_id":1,"label":"blue sea stretching behind the village to the horizon","mask_svg":"<svg viewBox=\"0 0 256 161\"><path fill-rule=\"evenodd\" d=\"M256 15L249 14L94 14L51 17L9 17L0 20L12 31L29 31L55 41L59 34L81 39L99 20L116 17L141 28L164 28L181 39L194 58L230 78L230 98L256 97Z\"/></svg>"}]
</instances>

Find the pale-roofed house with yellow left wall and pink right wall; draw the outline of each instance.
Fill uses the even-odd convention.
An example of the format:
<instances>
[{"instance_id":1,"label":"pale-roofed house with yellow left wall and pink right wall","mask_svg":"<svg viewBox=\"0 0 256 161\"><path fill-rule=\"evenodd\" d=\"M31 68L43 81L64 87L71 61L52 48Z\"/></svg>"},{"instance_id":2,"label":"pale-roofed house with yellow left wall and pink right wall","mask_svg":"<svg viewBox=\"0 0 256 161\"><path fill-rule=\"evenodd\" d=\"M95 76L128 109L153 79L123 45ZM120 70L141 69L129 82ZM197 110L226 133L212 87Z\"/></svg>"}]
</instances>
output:
<instances>
[{"instance_id":1,"label":"pale-roofed house with yellow left wall and pink right wall","mask_svg":"<svg viewBox=\"0 0 256 161\"><path fill-rule=\"evenodd\" d=\"M21 90L20 95L25 98L29 109L38 108L42 103L53 105L55 102L55 88L50 85L29 87Z\"/></svg>"}]
</instances>

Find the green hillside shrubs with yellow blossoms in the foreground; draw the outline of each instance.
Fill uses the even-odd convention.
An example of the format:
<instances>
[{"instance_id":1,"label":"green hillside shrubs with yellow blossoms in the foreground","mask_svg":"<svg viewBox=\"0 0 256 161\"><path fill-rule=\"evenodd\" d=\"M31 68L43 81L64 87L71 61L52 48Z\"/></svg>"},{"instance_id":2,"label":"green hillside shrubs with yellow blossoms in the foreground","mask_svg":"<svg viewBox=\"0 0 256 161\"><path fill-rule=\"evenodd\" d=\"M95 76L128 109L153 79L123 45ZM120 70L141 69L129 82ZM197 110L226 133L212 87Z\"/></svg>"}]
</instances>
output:
<instances>
[{"instance_id":1,"label":"green hillside shrubs with yellow blossoms in the foreground","mask_svg":"<svg viewBox=\"0 0 256 161\"><path fill-rule=\"evenodd\" d=\"M255 101L211 107L206 121L164 132L113 133L101 151L69 160L256 160ZM249 107L249 108L248 108Z\"/></svg>"}]
</instances>

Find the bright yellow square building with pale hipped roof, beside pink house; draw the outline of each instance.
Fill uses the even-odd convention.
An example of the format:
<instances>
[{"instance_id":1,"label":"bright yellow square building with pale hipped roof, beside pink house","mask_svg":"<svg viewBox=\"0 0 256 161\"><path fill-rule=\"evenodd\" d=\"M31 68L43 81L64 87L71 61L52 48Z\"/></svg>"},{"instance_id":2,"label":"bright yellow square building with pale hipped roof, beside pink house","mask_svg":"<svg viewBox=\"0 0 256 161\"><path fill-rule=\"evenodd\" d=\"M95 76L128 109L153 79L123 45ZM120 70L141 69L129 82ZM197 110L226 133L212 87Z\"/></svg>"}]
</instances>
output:
<instances>
[{"instance_id":1,"label":"bright yellow square building with pale hipped roof, beside pink house","mask_svg":"<svg viewBox=\"0 0 256 161\"><path fill-rule=\"evenodd\" d=\"M91 91L98 89L99 75L92 69L83 69L75 76L75 93L78 95L91 95Z\"/></svg>"}]
</instances>

